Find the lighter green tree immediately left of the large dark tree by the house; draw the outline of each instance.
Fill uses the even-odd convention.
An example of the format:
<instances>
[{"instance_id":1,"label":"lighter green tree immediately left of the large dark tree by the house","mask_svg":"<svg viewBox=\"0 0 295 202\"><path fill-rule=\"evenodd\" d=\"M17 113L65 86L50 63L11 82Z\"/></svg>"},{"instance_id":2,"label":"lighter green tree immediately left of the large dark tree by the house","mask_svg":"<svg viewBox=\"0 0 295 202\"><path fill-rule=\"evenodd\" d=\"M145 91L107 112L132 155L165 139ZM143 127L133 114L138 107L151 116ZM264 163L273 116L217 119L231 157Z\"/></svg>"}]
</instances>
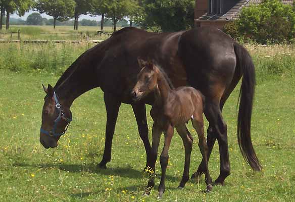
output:
<instances>
[{"instance_id":1,"label":"lighter green tree immediately left of the large dark tree by the house","mask_svg":"<svg viewBox=\"0 0 295 202\"><path fill-rule=\"evenodd\" d=\"M116 24L125 16L133 13L138 8L135 0L109 0L106 17L114 24L114 31L116 31Z\"/></svg>"}]
</instances>

